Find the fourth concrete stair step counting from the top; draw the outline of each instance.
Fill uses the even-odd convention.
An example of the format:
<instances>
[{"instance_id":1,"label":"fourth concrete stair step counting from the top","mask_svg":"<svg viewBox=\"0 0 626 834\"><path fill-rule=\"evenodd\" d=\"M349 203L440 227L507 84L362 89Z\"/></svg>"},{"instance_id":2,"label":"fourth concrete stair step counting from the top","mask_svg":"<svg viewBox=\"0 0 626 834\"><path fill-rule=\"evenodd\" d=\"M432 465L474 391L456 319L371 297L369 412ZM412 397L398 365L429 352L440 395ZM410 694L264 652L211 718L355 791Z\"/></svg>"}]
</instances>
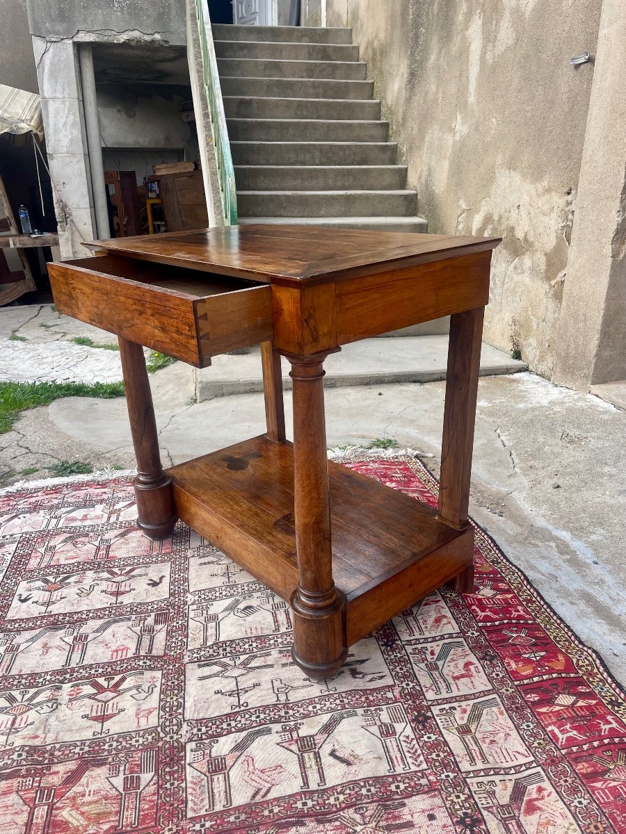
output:
<instances>
[{"instance_id":1,"label":"fourth concrete stair step counting from the top","mask_svg":"<svg viewBox=\"0 0 626 834\"><path fill-rule=\"evenodd\" d=\"M222 95L255 98L357 98L374 94L373 81L335 78L228 78L220 73Z\"/></svg>"}]
</instances>

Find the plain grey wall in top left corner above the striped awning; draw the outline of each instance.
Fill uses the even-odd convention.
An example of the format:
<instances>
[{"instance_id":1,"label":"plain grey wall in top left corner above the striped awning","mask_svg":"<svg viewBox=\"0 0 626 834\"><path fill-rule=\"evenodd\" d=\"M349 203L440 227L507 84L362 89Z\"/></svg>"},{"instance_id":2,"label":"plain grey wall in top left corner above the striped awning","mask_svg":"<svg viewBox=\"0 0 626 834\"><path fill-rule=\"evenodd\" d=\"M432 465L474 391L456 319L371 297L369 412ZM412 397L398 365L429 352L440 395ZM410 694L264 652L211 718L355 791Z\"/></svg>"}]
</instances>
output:
<instances>
[{"instance_id":1,"label":"plain grey wall in top left corner above the striped awning","mask_svg":"<svg viewBox=\"0 0 626 834\"><path fill-rule=\"evenodd\" d=\"M0 84L38 93L26 0L0 0Z\"/></svg>"}]
</instances>

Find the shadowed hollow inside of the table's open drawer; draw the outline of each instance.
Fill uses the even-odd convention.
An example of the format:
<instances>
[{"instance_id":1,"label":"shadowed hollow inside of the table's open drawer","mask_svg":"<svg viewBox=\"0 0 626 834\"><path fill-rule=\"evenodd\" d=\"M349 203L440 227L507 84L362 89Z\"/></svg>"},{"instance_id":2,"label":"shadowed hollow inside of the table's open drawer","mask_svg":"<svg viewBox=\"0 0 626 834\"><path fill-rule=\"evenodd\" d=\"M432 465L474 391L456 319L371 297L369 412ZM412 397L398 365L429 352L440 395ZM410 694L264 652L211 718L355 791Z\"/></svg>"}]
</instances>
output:
<instances>
[{"instance_id":1,"label":"shadowed hollow inside of the table's open drawer","mask_svg":"<svg viewBox=\"0 0 626 834\"><path fill-rule=\"evenodd\" d=\"M133 258L118 258L115 255L98 255L95 258L81 258L69 263L83 269L93 269L93 272L112 275L115 278L168 289L194 300L207 299L211 295L232 293L240 289L266 286L258 281L248 281L244 278L231 278L229 275L201 272L197 269L185 269L168 264L154 264L151 261Z\"/></svg>"}]
</instances>

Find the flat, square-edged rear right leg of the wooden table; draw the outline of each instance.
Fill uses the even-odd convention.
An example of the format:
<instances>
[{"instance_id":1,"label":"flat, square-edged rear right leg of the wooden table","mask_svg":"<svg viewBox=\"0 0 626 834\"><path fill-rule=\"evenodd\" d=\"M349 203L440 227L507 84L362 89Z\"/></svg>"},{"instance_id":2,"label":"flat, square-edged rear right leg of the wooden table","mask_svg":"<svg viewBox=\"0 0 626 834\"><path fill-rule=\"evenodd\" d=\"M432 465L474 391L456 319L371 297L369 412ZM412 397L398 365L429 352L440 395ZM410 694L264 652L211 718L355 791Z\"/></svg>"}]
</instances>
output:
<instances>
[{"instance_id":1,"label":"flat, square-edged rear right leg of the wooden table","mask_svg":"<svg viewBox=\"0 0 626 834\"><path fill-rule=\"evenodd\" d=\"M479 307L450 319L439 518L457 530L467 525L483 317L484 308ZM471 592L473 565L451 585Z\"/></svg>"}]
</instances>

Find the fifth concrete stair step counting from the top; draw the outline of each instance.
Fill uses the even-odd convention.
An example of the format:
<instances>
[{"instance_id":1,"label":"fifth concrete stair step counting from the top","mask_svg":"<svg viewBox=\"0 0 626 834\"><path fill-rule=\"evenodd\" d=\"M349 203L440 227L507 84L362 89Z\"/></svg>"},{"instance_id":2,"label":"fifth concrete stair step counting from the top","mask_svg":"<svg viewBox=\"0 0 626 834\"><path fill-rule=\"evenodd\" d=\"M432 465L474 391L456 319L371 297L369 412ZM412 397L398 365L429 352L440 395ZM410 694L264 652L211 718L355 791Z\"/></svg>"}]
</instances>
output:
<instances>
[{"instance_id":1,"label":"fifth concrete stair step counting from the top","mask_svg":"<svg viewBox=\"0 0 626 834\"><path fill-rule=\"evenodd\" d=\"M239 118L326 118L379 120L379 101L353 98L269 98L224 95L226 116Z\"/></svg>"}]
</instances>

